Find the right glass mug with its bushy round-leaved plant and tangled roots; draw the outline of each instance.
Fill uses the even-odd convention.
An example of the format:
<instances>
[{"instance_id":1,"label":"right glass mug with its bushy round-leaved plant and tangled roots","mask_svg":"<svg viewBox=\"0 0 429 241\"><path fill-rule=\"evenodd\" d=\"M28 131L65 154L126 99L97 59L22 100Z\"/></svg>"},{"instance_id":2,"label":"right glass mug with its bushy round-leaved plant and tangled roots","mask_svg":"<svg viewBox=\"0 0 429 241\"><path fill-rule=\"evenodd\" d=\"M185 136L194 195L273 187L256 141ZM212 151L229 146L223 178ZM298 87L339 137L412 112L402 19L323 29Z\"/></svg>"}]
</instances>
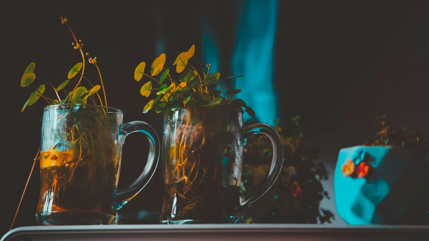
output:
<instances>
[{"instance_id":1,"label":"right glass mug with its bushy round-leaved plant and tangled roots","mask_svg":"<svg viewBox=\"0 0 429 241\"><path fill-rule=\"evenodd\" d=\"M194 51L192 45L173 62L178 77L164 66L165 54L155 59L150 74L145 72L145 62L134 71L136 81L142 76L149 78L140 94L155 97L143 113L153 109L165 116L162 152L167 192L161 221L239 223L242 207L262 196L277 178L283 146L277 131L269 125L244 127L243 112L250 116L255 113L243 100L234 98L241 90L224 91L218 84L220 73L210 73L210 64L205 65L205 71ZM157 79L156 75L161 76ZM227 78L232 78L235 87L236 79L243 76ZM256 129L273 142L277 154L273 172L258 189L240 193L243 139Z\"/></svg>"}]
</instances>

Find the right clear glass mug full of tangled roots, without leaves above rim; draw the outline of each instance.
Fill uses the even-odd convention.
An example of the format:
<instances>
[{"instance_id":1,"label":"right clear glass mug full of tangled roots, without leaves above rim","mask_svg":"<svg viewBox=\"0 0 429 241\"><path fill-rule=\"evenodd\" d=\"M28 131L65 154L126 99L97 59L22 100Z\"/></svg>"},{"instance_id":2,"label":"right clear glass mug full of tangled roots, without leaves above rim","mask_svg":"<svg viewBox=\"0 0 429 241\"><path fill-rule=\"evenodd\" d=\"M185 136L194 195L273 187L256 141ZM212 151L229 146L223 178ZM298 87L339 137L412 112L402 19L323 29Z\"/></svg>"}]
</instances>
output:
<instances>
[{"instance_id":1,"label":"right clear glass mug full of tangled roots, without leaves above rim","mask_svg":"<svg viewBox=\"0 0 429 241\"><path fill-rule=\"evenodd\" d=\"M244 205L264 195L281 170L281 137L267 124L243 127L243 111L231 107L182 108L167 112L164 126L167 195L161 223L240 223ZM241 193L245 138L258 129L273 144L271 168L258 186Z\"/></svg>"}]
</instances>

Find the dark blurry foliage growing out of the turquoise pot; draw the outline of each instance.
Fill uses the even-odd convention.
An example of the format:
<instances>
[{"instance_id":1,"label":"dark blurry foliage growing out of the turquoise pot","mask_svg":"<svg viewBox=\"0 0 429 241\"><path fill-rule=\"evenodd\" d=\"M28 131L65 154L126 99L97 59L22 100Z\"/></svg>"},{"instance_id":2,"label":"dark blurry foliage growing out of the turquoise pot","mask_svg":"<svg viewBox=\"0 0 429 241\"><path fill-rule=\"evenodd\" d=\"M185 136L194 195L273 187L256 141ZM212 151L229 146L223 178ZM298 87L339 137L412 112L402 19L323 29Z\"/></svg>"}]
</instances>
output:
<instances>
[{"instance_id":1,"label":"dark blurry foliage growing out of the turquoise pot","mask_svg":"<svg viewBox=\"0 0 429 241\"><path fill-rule=\"evenodd\" d=\"M416 148L422 153L429 151L428 135L418 131L409 131L406 127L395 128L388 124L386 115L377 117L375 125L380 130L364 145Z\"/></svg>"}]
</instances>

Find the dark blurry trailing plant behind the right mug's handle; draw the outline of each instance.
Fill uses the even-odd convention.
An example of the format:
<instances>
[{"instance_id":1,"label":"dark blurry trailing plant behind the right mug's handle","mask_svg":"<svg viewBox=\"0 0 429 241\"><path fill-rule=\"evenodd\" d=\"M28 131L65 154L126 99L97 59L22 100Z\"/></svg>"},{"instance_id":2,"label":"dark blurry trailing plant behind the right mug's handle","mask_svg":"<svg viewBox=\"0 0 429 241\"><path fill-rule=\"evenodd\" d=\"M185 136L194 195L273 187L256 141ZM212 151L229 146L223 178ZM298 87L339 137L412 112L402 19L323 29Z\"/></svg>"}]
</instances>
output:
<instances>
[{"instance_id":1,"label":"dark blurry trailing plant behind the right mug's handle","mask_svg":"<svg viewBox=\"0 0 429 241\"><path fill-rule=\"evenodd\" d=\"M245 210L249 223L331 223L334 218L329 210L320 207L323 198L329 199L322 181L329 172L318 163L318 148L310 145L305 137L300 117L289 121L275 121L284 145L284 163L280 175L268 193ZM245 157L252 160L245 166L242 190L253 188L267 175L266 159L272 148L265 136L247 139Z\"/></svg>"}]
</instances>

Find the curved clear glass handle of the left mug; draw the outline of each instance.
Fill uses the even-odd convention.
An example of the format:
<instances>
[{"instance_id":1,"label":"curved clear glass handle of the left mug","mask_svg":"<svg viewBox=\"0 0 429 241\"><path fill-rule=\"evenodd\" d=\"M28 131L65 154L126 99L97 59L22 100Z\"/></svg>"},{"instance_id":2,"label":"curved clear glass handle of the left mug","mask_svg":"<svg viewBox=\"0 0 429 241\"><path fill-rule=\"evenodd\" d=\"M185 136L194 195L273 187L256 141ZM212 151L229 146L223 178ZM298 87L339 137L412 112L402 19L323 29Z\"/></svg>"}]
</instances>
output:
<instances>
[{"instance_id":1,"label":"curved clear glass handle of the left mug","mask_svg":"<svg viewBox=\"0 0 429 241\"><path fill-rule=\"evenodd\" d=\"M130 201L149 183L158 166L160 155L160 140L157 132L146 122L131 121L123 124L119 129L119 144L123 145L125 137L133 132L141 132L149 140L149 156L145 169L140 176L131 185L123 190L116 190L114 194L113 209L119 210L123 205Z\"/></svg>"}]
</instances>

